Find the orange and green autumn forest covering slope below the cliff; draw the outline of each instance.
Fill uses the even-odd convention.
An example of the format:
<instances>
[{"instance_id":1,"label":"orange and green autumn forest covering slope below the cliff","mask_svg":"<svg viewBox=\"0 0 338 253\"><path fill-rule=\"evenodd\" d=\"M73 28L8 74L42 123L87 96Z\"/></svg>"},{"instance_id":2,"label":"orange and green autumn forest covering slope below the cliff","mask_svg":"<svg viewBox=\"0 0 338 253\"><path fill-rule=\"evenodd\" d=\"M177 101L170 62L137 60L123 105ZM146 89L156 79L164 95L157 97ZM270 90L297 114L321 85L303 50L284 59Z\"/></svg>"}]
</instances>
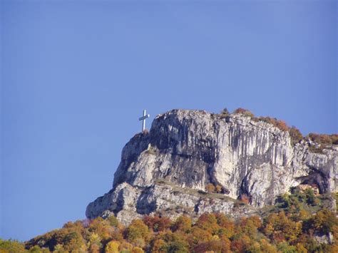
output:
<instances>
[{"instance_id":1,"label":"orange and green autumn forest covering slope below the cliff","mask_svg":"<svg viewBox=\"0 0 338 253\"><path fill-rule=\"evenodd\" d=\"M311 189L291 192L262 217L145 215L128 226L113 216L98 217L67 222L25 243L0 239L0 252L337 252L338 219L323 208L325 196Z\"/></svg>"}]
</instances>

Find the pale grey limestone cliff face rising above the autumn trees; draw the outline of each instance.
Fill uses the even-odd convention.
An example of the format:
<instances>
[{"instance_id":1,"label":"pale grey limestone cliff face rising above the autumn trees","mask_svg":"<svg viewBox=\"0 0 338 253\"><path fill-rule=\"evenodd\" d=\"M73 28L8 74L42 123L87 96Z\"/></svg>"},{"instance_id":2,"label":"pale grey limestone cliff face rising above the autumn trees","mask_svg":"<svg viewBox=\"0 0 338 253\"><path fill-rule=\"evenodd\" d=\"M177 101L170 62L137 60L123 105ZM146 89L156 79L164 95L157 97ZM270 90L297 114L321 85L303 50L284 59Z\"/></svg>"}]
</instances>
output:
<instances>
[{"instance_id":1,"label":"pale grey limestone cliff face rising above the autumn trees","mask_svg":"<svg viewBox=\"0 0 338 253\"><path fill-rule=\"evenodd\" d=\"M126 144L113 189L91 202L86 215L114 213L126 223L153 212L247 215L299 184L337 191L337 167L337 147L310 153L309 143L293 146L289 133L270 123L171 110ZM209 183L221 185L222 193L205 194ZM238 205L241 195L250 205Z\"/></svg>"}]
</instances>

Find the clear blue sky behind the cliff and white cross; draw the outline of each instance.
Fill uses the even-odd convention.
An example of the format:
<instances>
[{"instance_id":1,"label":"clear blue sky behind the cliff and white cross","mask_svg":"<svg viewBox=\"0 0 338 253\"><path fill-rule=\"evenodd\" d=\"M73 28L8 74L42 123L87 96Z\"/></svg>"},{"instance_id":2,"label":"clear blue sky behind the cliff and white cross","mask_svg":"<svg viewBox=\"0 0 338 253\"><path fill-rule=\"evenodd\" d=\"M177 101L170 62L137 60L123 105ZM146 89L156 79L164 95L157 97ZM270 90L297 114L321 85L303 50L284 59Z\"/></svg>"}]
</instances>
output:
<instances>
[{"instance_id":1,"label":"clear blue sky behind the cliff and white cross","mask_svg":"<svg viewBox=\"0 0 338 253\"><path fill-rule=\"evenodd\" d=\"M173 108L337 133L337 1L2 1L1 232L85 218Z\"/></svg>"}]
</instances>

